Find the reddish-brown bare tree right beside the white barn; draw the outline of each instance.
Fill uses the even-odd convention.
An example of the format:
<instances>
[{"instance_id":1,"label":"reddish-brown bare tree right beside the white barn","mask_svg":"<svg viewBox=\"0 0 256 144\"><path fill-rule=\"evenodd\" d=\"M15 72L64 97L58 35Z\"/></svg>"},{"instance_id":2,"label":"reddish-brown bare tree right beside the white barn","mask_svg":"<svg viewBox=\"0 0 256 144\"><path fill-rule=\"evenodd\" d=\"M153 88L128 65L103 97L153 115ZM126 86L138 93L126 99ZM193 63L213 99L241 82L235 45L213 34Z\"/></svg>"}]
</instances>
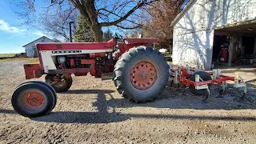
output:
<instances>
[{"instance_id":1,"label":"reddish-brown bare tree right beside the white barn","mask_svg":"<svg viewBox=\"0 0 256 144\"><path fill-rule=\"evenodd\" d=\"M173 27L170 23L182 10L186 0L161 0L142 10L143 36L158 38L160 46L170 46Z\"/></svg>"}]
</instances>

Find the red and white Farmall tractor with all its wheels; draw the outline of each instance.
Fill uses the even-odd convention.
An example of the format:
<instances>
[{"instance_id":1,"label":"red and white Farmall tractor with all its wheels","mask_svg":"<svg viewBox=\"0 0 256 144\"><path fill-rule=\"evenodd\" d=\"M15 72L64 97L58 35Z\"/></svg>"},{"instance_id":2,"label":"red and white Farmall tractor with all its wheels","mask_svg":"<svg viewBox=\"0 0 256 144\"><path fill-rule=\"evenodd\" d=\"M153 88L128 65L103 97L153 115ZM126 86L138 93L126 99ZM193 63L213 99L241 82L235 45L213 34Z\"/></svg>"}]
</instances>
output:
<instances>
[{"instance_id":1,"label":"red and white Farmall tractor with all its wheels","mask_svg":"<svg viewBox=\"0 0 256 144\"><path fill-rule=\"evenodd\" d=\"M50 113L57 102L55 91L64 92L72 85L71 74L95 78L113 75L122 97L134 102L153 101L166 87L170 67L166 58L154 50L154 38L125 38L109 42L38 43L40 64L25 64L26 79L46 82L22 83L12 96L18 114L38 117Z\"/></svg>"}]
</instances>

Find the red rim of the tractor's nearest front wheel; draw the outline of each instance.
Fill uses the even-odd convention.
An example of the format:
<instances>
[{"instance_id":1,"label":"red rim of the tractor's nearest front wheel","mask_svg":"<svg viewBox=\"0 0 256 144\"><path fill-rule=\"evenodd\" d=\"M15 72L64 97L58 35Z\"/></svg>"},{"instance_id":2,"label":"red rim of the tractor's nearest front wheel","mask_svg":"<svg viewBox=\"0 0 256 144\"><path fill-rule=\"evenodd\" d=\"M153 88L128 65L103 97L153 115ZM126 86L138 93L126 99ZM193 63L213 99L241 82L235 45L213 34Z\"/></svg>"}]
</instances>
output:
<instances>
[{"instance_id":1,"label":"red rim of the tractor's nearest front wheel","mask_svg":"<svg viewBox=\"0 0 256 144\"><path fill-rule=\"evenodd\" d=\"M44 97L37 91L30 91L23 95L22 102L29 109L38 109L44 102Z\"/></svg>"}]
</instances>

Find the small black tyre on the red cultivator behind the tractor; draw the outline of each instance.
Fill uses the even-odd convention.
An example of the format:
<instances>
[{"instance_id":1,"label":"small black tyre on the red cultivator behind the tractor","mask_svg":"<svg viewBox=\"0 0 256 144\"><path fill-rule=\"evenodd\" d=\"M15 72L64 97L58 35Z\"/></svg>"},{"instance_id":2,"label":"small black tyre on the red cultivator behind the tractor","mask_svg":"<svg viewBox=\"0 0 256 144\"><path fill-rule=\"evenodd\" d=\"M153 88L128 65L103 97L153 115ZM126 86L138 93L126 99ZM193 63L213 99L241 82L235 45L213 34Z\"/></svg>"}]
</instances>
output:
<instances>
[{"instance_id":1,"label":"small black tyre on the red cultivator behind the tractor","mask_svg":"<svg viewBox=\"0 0 256 144\"><path fill-rule=\"evenodd\" d=\"M210 74L206 73L205 71L198 71L198 72L195 72L191 77L190 77L190 80L195 82L195 75L198 74L200 78L202 78L203 81L209 81L209 80L212 80ZM200 80L201 81L201 80ZM210 86L211 84L208 84L208 87L210 89ZM202 90L197 90L195 88L195 86L190 86L190 91L192 94L194 95L205 95L207 94L207 90L206 89L202 89Z\"/></svg>"}]
</instances>

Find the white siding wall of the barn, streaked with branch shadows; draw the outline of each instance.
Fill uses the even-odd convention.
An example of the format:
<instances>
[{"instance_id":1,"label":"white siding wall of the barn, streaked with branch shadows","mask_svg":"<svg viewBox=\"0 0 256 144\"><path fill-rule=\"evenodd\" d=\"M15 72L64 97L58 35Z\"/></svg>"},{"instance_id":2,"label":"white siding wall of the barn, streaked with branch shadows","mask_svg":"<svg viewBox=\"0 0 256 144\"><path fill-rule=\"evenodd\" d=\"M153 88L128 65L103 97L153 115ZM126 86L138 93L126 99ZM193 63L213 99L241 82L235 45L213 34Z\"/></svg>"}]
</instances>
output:
<instances>
[{"instance_id":1,"label":"white siding wall of the barn, streaked with branch shadows","mask_svg":"<svg viewBox=\"0 0 256 144\"><path fill-rule=\"evenodd\" d=\"M198 0L174 26L174 64L210 69L214 29L255 18L256 0Z\"/></svg>"}]
</instances>

